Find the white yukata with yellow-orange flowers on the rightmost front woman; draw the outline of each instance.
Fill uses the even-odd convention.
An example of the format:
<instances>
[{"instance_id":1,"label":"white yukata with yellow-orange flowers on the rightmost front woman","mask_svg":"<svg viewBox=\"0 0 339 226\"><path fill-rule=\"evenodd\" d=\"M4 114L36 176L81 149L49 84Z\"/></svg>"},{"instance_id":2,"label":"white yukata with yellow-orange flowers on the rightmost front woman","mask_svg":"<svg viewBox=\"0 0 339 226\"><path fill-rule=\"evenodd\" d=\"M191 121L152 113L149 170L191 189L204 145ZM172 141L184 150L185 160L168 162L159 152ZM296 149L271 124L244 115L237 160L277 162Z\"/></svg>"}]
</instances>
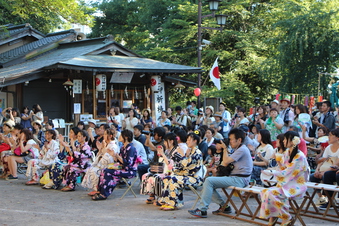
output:
<instances>
[{"instance_id":1,"label":"white yukata with yellow-orange flowers on the rightmost front woman","mask_svg":"<svg viewBox=\"0 0 339 226\"><path fill-rule=\"evenodd\" d=\"M309 170L305 155L298 151L291 163L289 163L289 158L289 151L286 150L280 170L272 171L278 184L261 192L261 218L290 219L288 198L302 198L307 190L306 181Z\"/></svg>"}]
</instances>

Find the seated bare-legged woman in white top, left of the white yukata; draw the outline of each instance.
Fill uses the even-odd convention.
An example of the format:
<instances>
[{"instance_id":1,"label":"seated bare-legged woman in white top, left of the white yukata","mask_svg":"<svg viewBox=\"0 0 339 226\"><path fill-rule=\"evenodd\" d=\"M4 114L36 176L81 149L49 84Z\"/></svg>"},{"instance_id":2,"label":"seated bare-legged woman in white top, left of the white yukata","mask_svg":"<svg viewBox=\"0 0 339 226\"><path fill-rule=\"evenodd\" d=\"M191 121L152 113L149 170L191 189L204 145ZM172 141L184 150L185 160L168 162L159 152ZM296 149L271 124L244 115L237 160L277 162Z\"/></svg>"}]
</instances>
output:
<instances>
[{"instance_id":1,"label":"seated bare-legged woman in white top, left of the white yukata","mask_svg":"<svg viewBox=\"0 0 339 226\"><path fill-rule=\"evenodd\" d=\"M33 140L33 134L28 129L23 129L20 134L20 142L18 149L20 150L20 156L12 155L8 156L8 168L10 175L6 180L17 180L17 167L18 163L27 163L31 159L36 159L39 156L39 151L34 147L35 141Z\"/></svg>"}]
</instances>

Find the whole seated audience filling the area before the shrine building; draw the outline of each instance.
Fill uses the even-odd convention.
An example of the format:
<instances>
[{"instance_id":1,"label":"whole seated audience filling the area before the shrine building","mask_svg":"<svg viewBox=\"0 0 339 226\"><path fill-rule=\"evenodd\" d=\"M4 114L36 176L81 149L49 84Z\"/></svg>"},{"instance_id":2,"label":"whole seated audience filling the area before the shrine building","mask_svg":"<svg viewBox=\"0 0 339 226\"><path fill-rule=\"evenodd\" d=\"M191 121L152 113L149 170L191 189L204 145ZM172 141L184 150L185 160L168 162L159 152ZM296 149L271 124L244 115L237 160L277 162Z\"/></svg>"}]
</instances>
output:
<instances>
[{"instance_id":1,"label":"whole seated audience filling the area before the shrine building","mask_svg":"<svg viewBox=\"0 0 339 226\"><path fill-rule=\"evenodd\" d=\"M39 105L31 111L24 107L21 114L6 108L0 134L1 178L17 180L18 164L27 164L27 185L44 178L42 188L68 192L80 180L97 201L123 185L121 178L138 175L146 203L164 211L184 205L183 190L188 186L202 186L200 205L189 213L207 217L212 201L220 205L214 214L232 211L230 206L223 208L217 188L267 187L262 178L270 177L277 184L262 192L260 216L269 218L270 224L279 217L282 225L292 221L288 198L302 197L307 181L338 182L339 116L331 102L317 103L309 111L285 98L258 106L251 115L241 106L233 114L224 102L217 107L198 109L190 101L162 111L154 120L149 109L138 113L133 105L125 116L112 107L105 123L89 120L88 125L79 122L71 128L68 141L52 122L43 125ZM223 175L222 169L229 166L231 171ZM319 208L326 209L328 197L321 191L318 195Z\"/></svg>"}]
</instances>

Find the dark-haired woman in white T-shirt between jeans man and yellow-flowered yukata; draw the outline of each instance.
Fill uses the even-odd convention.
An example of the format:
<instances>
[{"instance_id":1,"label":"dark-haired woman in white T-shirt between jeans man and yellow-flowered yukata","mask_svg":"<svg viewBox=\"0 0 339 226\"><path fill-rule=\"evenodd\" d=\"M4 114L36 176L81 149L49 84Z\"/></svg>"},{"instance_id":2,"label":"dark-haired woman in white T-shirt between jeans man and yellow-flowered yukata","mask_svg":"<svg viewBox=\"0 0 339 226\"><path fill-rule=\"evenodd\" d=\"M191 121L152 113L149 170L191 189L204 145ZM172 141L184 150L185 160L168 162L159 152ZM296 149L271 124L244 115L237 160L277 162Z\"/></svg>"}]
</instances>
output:
<instances>
[{"instance_id":1,"label":"dark-haired woman in white T-shirt between jeans man and yellow-flowered yukata","mask_svg":"<svg viewBox=\"0 0 339 226\"><path fill-rule=\"evenodd\" d=\"M267 169L269 161L274 154L274 149L271 143L271 134L267 129L259 130L257 139L260 145L254 153L251 179L255 180L257 184L261 184L261 171Z\"/></svg>"}]
</instances>

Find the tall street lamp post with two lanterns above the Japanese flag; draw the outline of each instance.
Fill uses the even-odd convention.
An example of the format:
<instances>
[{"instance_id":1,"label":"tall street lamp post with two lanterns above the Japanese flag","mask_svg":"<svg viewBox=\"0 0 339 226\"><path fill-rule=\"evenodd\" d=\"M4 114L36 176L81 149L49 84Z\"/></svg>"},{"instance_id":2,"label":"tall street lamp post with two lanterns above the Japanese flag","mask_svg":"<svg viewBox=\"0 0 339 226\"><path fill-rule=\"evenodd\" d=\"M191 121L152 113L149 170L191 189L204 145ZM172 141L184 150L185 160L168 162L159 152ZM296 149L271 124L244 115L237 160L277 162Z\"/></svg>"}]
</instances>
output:
<instances>
[{"instance_id":1,"label":"tall street lamp post with two lanterns above the Japanese flag","mask_svg":"<svg viewBox=\"0 0 339 226\"><path fill-rule=\"evenodd\" d=\"M201 15L202 11L202 0L198 1L198 67L201 67L201 50L202 50L202 29L210 29L210 30L222 30L222 26L226 24L226 15L215 15L214 12L218 10L219 2L221 0L209 0L209 7L212 11L211 14ZM213 27L201 27L202 18L205 17L216 17L217 24L220 25L220 28ZM198 74L198 87L201 88L201 73ZM198 107L200 108L200 96L198 96Z\"/></svg>"}]
</instances>

